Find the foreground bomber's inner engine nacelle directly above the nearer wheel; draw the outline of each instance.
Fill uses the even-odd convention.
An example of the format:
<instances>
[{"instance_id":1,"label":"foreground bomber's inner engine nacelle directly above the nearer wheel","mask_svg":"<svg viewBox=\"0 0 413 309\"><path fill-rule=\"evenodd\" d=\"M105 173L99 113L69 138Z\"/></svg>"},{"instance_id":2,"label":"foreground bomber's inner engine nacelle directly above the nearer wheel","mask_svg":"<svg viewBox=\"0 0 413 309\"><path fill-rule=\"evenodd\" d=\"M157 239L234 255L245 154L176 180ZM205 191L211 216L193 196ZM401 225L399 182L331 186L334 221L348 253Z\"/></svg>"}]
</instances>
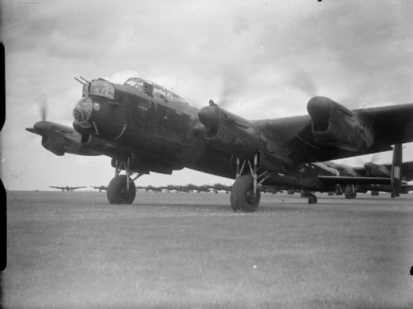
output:
<instances>
[{"instance_id":1,"label":"foreground bomber's inner engine nacelle directly above the nearer wheel","mask_svg":"<svg viewBox=\"0 0 413 309\"><path fill-rule=\"evenodd\" d=\"M258 152L259 136L251 121L217 106L203 107L198 116L205 125L205 141L212 148L244 158Z\"/></svg>"}]
</instances>

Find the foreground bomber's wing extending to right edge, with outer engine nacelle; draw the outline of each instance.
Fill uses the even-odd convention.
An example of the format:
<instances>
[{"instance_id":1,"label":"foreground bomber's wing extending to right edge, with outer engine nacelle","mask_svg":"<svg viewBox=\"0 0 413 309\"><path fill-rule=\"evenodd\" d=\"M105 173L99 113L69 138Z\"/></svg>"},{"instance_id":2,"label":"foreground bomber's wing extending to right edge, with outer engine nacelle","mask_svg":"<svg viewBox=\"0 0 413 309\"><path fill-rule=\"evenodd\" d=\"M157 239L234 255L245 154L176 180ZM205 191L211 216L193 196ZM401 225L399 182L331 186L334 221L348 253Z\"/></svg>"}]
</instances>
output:
<instances>
[{"instance_id":1,"label":"foreground bomber's wing extending to right edge, with outer engine nacelle","mask_svg":"<svg viewBox=\"0 0 413 309\"><path fill-rule=\"evenodd\" d=\"M351 111L330 101L321 116L313 111L311 116L253 121L268 152L296 164L388 151L391 145L413 141L413 104Z\"/></svg>"}]
</instances>

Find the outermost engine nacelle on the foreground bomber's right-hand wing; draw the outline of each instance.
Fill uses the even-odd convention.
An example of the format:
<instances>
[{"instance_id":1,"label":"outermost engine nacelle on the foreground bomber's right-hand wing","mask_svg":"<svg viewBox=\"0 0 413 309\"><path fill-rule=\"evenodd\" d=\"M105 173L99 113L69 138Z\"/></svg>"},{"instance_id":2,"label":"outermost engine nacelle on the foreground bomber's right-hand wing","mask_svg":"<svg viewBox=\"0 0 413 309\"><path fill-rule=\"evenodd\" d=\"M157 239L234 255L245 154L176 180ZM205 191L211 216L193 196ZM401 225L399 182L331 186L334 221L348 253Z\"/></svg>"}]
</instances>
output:
<instances>
[{"instance_id":1,"label":"outermost engine nacelle on the foreground bomber's right-hand wing","mask_svg":"<svg viewBox=\"0 0 413 309\"><path fill-rule=\"evenodd\" d=\"M316 96L308 101L307 111L317 143L351 151L364 151L373 145L374 133L369 124L334 100Z\"/></svg>"}]
</instances>

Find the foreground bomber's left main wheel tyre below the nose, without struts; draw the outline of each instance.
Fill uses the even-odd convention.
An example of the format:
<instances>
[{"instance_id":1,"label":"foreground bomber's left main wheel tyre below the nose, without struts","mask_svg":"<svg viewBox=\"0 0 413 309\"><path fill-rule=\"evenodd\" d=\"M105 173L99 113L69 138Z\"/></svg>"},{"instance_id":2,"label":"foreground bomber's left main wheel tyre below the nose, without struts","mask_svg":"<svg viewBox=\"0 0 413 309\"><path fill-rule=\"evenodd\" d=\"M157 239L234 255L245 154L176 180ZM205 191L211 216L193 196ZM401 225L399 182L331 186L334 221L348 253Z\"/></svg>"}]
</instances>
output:
<instances>
[{"instance_id":1,"label":"foreground bomber's left main wheel tyre below the nose, without struts","mask_svg":"<svg viewBox=\"0 0 413 309\"><path fill-rule=\"evenodd\" d=\"M117 175L108 185L108 201L110 204L132 204L136 196L135 182L129 178L129 190L126 188L126 175Z\"/></svg>"}]
</instances>

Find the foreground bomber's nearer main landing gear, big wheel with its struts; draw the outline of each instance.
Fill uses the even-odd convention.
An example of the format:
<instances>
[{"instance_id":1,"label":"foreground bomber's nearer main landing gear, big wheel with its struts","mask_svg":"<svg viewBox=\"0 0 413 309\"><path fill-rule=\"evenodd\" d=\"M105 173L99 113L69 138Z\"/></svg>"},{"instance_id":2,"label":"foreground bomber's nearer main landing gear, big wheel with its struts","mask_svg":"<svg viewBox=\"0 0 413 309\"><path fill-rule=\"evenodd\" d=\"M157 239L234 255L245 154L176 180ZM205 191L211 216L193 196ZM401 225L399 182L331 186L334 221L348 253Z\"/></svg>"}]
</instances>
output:
<instances>
[{"instance_id":1,"label":"foreground bomber's nearer main landing gear, big wheel with its struts","mask_svg":"<svg viewBox=\"0 0 413 309\"><path fill-rule=\"evenodd\" d=\"M248 170L244 173L246 163L249 166L249 174ZM250 160L244 160L241 165L240 159L237 158L237 175L230 193L230 203L234 211L251 212L257 210L261 198L260 184L262 184L269 175L267 171L258 175L257 169L257 155L255 155L252 165Z\"/></svg>"}]
</instances>

